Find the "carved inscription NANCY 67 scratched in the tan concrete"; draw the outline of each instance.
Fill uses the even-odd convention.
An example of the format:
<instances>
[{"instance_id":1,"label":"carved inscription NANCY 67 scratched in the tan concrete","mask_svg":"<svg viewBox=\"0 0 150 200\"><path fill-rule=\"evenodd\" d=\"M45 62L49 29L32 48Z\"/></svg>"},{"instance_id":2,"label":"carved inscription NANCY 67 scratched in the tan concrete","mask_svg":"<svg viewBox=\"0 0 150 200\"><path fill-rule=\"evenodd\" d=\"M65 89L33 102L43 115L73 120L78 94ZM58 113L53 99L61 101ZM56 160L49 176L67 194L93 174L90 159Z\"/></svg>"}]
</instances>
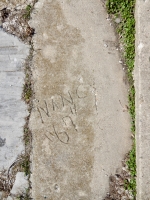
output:
<instances>
[{"instance_id":1,"label":"carved inscription NANCY 67 scratched in the tan concrete","mask_svg":"<svg viewBox=\"0 0 150 200\"><path fill-rule=\"evenodd\" d=\"M95 107L94 92L94 87L79 85L73 92L55 94L38 102L36 110L41 123L46 127L44 135L50 142L69 144L70 134L78 132L77 118L80 110L87 109L88 100L92 101ZM97 107L95 109L97 110Z\"/></svg>"}]
</instances>

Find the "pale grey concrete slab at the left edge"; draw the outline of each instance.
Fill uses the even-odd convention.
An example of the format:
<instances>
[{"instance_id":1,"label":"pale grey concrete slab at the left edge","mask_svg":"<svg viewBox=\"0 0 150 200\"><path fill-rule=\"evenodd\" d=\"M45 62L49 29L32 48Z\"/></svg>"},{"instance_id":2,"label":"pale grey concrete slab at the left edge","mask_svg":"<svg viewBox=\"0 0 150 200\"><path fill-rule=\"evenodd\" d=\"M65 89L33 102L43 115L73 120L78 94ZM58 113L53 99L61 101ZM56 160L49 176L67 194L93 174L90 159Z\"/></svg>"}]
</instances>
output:
<instances>
[{"instance_id":1,"label":"pale grey concrete slab at the left edge","mask_svg":"<svg viewBox=\"0 0 150 200\"><path fill-rule=\"evenodd\" d=\"M21 99L23 62L29 47L0 30L0 171L8 169L24 151L23 126L28 115Z\"/></svg>"}]
</instances>

